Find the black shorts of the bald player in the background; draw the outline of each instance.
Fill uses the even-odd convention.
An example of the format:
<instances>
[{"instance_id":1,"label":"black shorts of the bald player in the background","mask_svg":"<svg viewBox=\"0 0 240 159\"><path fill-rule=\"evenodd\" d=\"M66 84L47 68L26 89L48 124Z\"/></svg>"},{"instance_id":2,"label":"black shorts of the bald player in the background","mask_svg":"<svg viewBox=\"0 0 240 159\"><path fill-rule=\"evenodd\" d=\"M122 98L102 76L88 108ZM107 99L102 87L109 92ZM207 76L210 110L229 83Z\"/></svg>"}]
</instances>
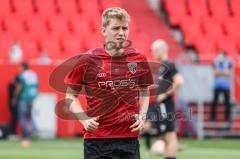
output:
<instances>
[{"instance_id":1,"label":"black shorts of the bald player in the background","mask_svg":"<svg viewBox=\"0 0 240 159\"><path fill-rule=\"evenodd\" d=\"M167 100L149 107L147 120L153 124L153 128L157 129L160 135L174 132L176 116L173 101Z\"/></svg>"}]
</instances>

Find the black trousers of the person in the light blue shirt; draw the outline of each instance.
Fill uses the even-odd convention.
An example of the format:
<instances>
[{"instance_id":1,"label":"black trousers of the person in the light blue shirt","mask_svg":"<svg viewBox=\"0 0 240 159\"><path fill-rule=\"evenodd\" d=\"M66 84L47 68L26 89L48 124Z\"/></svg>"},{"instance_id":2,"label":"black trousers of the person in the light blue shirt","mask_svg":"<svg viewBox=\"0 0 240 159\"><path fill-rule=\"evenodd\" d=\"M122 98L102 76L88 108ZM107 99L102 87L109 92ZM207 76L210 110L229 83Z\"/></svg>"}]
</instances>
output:
<instances>
[{"instance_id":1,"label":"black trousers of the person in the light blue shirt","mask_svg":"<svg viewBox=\"0 0 240 159\"><path fill-rule=\"evenodd\" d=\"M225 105L225 119L227 121L231 118L231 105L230 105L230 90L229 89L215 89L214 90L214 98L212 103L212 109L211 109L211 119L216 119L216 107L218 105L218 99L220 94L224 95L224 105Z\"/></svg>"}]
</instances>

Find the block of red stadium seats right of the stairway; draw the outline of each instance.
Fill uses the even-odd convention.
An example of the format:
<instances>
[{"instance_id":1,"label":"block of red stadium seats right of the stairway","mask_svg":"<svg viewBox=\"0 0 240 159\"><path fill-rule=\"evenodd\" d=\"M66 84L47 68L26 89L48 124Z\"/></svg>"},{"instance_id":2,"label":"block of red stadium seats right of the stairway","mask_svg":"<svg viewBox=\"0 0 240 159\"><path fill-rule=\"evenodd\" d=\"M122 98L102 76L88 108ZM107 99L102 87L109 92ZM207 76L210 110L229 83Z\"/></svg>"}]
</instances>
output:
<instances>
[{"instance_id":1,"label":"block of red stadium seats right of the stairway","mask_svg":"<svg viewBox=\"0 0 240 159\"><path fill-rule=\"evenodd\" d=\"M185 45L193 46L201 60L219 49L229 55L239 52L239 4L237 0L165 0L164 9L170 24L182 31Z\"/></svg>"}]
</instances>

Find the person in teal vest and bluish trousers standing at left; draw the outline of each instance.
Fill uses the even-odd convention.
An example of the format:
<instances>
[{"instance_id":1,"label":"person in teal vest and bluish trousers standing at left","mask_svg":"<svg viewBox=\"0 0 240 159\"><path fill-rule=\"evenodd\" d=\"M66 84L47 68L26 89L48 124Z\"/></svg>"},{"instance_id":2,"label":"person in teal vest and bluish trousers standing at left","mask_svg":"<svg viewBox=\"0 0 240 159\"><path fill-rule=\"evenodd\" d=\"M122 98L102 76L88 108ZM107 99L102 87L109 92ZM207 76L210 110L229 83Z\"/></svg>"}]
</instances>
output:
<instances>
[{"instance_id":1,"label":"person in teal vest and bluish trousers standing at left","mask_svg":"<svg viewBox=\"0 0 240 159\"><path fill-rule=\"evenodd\" d=\"M27 63L22 63L14 94L14 103L16 103L16 97L19 97L18 117L22 128L22 147L29 147L30 135L36 135L37 133L36 125L32 118L32 105L38 95L38 85L37 74L29 69Z\"/></svg>"}]
</instances>

